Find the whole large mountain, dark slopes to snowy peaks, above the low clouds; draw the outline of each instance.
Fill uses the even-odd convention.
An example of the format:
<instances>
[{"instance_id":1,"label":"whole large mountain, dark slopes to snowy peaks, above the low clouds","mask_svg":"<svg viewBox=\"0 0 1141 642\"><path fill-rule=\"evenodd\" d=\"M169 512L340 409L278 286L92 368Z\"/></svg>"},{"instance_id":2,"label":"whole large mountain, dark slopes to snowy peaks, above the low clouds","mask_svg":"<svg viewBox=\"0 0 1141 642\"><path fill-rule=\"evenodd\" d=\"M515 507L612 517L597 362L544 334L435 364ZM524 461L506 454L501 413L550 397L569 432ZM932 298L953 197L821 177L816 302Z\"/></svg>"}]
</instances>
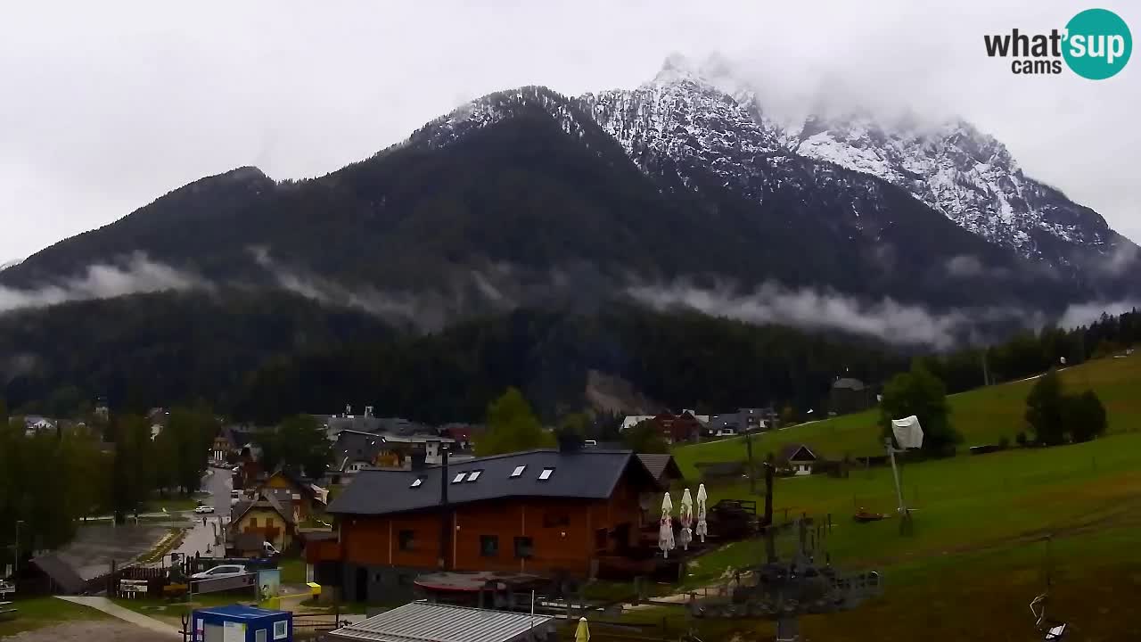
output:
<instances>
[{"instance_id":1,"label":"whole large mountain, dark slopes to snowy peaks, above the low clouds","mask_svg":"<svg viewBox=\"0 0 1141 642\"><path fill-rule=\"evenodd\" d=\"M251 167L207 177L5 270L0 286L50 284L143 252L221 282L282 287L285 268L346 291L436 292L461 302L448 308L460 316L550 299L556 281L559 296L583 299L685 279L742 294L776 282L942 308L1059 310L1122 292L1112 272L1135 257L1123 267L1107 252L1135 246L1093 210L1023 179L997 141L964 134L939 162L916 164L917 150L931 149L919 138L892 146L882 128L851 126L844 137L823 120L793 130L766 115L753 88L703 73L671 57L636 89L488 94L319 178L275 183ZM882 161L875 171L837 157L857 143L875 143L865 147L869 162ZM811 154L801 153L806 145ZM1054 262L1027 256L917 194L924 171L976 157L1015 176L1029 191L1023 201L1073 215L1082 234L1058 241ZM948 193L958 194L958 178ZM992 182L1009 187L1003 180ZM979 202L994 195L978 193ZM993 208L971 211L993 220ZM1043 247L1059 239L1008 231ZM1108 275L1098 272L1104 262Z\"/></svg>"}]
</instances>

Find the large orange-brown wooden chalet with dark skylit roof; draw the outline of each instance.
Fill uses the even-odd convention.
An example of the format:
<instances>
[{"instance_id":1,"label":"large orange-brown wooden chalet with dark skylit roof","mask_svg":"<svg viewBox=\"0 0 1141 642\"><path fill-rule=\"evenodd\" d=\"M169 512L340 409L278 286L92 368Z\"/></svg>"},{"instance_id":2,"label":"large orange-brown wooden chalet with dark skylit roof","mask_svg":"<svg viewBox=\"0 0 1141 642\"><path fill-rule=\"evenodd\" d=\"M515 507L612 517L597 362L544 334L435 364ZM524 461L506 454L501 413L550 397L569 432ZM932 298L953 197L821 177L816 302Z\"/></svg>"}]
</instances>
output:
<instances>
[{"instance_id":1,"label":"large orange-brown wooden chalet with dark skylit roof","mask_svg":"<svg viewBox=\"0 0 1141 642\"><path fill-rule=\"evenodd\" d=\"M406 592L424 571L592 576L639 546L642 499L677 476L659 459L652 472L629 450L533 450L361 471L329 506L338 538L307 561L348 601Z\"/></svg>"}]
</instances>

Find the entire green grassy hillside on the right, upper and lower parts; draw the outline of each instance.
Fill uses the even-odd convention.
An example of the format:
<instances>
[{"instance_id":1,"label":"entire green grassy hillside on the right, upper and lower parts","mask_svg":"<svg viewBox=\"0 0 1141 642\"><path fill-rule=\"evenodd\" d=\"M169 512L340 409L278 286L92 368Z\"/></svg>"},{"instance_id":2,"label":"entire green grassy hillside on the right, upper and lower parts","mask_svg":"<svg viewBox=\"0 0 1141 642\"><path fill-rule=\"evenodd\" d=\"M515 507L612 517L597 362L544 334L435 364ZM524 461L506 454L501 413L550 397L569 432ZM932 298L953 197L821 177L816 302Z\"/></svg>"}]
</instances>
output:
<instances>
[{"instance_id":1,"label":"entire green grassy hillside on the right, upper and lower parts","mask_svg":"<svg viewBox=\"0 0 1141 642\"><path fill-rule=\"evenodd\" d=\"M1090 443L1010 450L906 463L901 467L915 530L898 520L856 523L864 507L895 514L891 470L852 471L847 479L778 478L777 521L832 515L826 549L849 571L879 570L883 597L847 613L804 618L808 639L832 641L1035 640L1027 604L1044 588L1044 536L1051 536L1053 605L1074 640L1141 639L1133 616L1141 595L1141 359L1091 362L1062 372L1070 391L1093 387L1109 412L1110 434ZM964 446L990 443L1021 430L1033 382L955 395L954 420ZM839 417L758 439L759 452L806 442L827 456L876 452L874 412ZM800 431L800 432L798 432ZM738 460L741 440L687 446L675 455L687 474L695 462ZM763 455L762 455L763 456ZM688 482L696 487L696 475ZM763 490L763 483L759 484ZM710 483L710 503L748 498L746 482ZM755 497L760 500L761 497ZM793 541L785 538L782 549ZM759 541L731 544L691 563L687 587L717 584L727 568L760 561ZM655 617L673 618L673 609ZM768 623L704 623L705 639L767 639ZM601 637L605 640L605 634Z\"/></svg>"}]
</instances>

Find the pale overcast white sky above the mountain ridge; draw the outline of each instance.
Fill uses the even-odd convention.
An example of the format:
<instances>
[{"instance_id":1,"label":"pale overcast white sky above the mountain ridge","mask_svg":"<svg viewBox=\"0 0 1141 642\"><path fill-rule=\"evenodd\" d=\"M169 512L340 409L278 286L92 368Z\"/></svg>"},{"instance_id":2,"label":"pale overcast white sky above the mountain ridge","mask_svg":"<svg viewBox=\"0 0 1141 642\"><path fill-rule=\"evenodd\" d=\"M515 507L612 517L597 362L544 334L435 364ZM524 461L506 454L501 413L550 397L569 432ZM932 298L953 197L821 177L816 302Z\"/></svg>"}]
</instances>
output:
<instances>
[{"instance_id":1,"label":"pale overcast white sky above the mountain ridge","mask_svg":"<svg viewBox=\"0 0 1141 642\"><path fill-rule=\"evenodd\" d=\"M1141 6L1101 1L9 2L0 263L234 167L325 174L489 91L636 87L672 51L747 61L772 104L958 113L1141 241L1141 61L1017 77L982 47L1094 6L1141 31Z\"/></svg>"}]
</instances>

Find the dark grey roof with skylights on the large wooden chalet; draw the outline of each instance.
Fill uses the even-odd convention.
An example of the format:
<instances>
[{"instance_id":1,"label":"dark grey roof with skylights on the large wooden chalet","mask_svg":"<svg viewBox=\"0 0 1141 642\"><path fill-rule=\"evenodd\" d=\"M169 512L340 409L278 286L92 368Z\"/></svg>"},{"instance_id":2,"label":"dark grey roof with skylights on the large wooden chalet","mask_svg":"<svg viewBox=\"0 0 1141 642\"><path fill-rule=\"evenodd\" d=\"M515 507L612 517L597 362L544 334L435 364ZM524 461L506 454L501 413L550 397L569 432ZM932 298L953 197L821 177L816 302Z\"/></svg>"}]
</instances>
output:
<instances>
[{"instance_id":1,"label":"dark grey roof with skylights on the large wooden chalet","mask_svg":"<svg viewBox=\"0 0 1141 642\"><path fill-rule=\"evenodd\" d=\"M633 462L629 450L586 449L574 452L531 450L494 457L479 457L447 467L450 504L464 504L503 497L567 497L605 499L614 492L623 473ZM511 473L526 466L519 476ZM555 468L547 480L539 475ZM636 464L641 479L649 483L646 468ZM460 473L482 471L474 482L452 483ZM337 499L330 513L382 515L438 506L440 466L419 471L361 471ZM412 488L413 481L422 480Z\"/></svg>"}]
</instances>

